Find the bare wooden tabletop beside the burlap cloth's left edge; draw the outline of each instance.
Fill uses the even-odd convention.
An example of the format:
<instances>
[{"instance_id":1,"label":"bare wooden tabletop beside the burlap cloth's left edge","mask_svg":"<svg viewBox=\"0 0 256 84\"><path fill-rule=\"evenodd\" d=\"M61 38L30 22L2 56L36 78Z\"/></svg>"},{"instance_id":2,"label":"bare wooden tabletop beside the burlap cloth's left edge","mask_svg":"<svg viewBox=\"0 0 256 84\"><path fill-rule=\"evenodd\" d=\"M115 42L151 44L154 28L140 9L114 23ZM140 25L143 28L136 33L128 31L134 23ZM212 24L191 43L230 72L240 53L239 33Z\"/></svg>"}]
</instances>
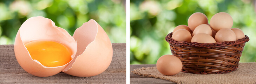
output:
<instances>
[{"instance_id":1,"label":"bare wooden tabletop beside the burlap cloth's left edge","mask_svg":"<svg viewBox=\"0 0 256 84\"><path fill-rule=\"evenodd\" d=\"M130 83L131 84L176 84L173 82L170 82L168 80L162 80L159 78L150 78L145 76L139 76L131 71L134 69L142 68L142 67L153 67L156 66L156 64L140 64L140 65L130 65Z\"/></svg>"}]
</instances>

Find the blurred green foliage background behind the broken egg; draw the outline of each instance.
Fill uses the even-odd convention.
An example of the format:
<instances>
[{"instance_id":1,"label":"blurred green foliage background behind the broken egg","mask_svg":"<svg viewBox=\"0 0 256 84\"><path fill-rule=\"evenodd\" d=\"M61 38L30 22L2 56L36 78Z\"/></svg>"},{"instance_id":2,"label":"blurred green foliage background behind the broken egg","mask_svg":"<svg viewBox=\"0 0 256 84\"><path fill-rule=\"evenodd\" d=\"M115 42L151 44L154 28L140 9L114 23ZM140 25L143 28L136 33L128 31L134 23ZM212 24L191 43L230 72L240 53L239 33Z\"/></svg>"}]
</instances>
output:
<instances>
[{"instance_id":1,"label":"blurred green foliage background behind the broken egg","mask_svg":"<svg viewBox=\"0 0 256 84\"><path fill-rule=\"evenodd\" d=\"M126 42L123 0L0 0L0 44L14 44L21 24L44 16L73 35L76 28L96 20L112 43Z\"/></svg>"}]
</instances>

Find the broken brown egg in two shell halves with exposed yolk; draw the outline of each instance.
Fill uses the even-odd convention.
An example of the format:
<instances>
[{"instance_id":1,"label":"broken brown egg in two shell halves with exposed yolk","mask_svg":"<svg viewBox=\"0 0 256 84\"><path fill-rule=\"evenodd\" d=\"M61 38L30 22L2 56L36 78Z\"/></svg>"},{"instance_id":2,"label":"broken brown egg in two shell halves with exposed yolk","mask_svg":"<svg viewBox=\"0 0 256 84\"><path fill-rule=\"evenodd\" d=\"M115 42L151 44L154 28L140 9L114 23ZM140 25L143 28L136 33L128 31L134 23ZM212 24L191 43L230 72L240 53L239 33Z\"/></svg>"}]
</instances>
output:
<instances>
[{"instance_id":1,"label":"broken brown egg in two shell halves with exposed yolk","mask_svg":"<svg viewBox=\"0 0 256 84\"><path fill-rule=\"evenodd\" d=\"M73 37L42 16L27 19L14 42L15 57L28 73L47 77L61 71L78 77L105 71L112 60L112 44L106 32L90 20Z\"/></svg>"}]
</instances>

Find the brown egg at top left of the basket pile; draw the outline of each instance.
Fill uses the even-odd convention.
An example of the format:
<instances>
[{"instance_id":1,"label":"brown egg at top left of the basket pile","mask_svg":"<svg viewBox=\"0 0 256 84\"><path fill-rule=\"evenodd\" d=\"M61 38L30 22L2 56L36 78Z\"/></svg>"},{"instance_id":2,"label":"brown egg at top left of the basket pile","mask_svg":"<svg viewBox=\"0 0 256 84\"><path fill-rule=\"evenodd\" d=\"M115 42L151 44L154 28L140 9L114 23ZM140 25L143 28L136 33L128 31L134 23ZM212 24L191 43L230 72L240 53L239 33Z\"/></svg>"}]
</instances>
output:
<instances>
[{"instance_id":1,"label":"brown egg at top left of the basket pile","mask_svg":"<svg viewBox=\"0 0 256 84\"><path fill-rule=\"evenodd\" d=\"M208 19L203 13L197 12L189 16L188 26L190 30L194 31L201 24L208 24Z\"/></svg>"}]
</instances>

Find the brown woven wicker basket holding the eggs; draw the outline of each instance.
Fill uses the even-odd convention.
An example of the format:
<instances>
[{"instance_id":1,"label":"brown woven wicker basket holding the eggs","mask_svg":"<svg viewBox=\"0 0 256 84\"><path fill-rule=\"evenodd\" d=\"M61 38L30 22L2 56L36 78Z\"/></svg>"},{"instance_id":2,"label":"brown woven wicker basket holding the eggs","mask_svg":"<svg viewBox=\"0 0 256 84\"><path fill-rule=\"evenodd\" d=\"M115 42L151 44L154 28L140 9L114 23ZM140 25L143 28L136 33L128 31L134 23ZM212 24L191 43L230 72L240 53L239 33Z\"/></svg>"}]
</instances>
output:
<instances>
[{"instance_id":1,"label":"brown woven wicker basket holding the eggs","mask_svg":"<svg viewBox=\"0 0 256 84\"><path fill-rule=\"evenodd\" d=\"M238 68L242 51L249 37L237 41L217 43L180 42L171 38L169 33L165 40L170 44L172 55L182 61L182 72L195 74L228 73Z\"/></svg>"}]
</instances>

